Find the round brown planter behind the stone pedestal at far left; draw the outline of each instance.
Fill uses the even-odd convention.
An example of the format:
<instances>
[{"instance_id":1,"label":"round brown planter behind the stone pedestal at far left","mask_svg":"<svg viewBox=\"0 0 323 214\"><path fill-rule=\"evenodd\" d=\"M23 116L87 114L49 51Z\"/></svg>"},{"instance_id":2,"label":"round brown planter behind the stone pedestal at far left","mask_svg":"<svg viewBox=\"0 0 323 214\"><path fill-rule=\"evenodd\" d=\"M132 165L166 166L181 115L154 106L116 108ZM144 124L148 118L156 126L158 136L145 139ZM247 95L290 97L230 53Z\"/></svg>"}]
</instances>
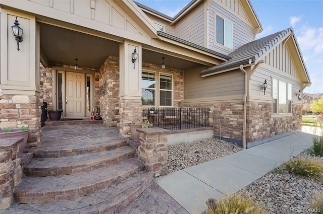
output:
<instances>
[{"instance_id":1,"label":"round brown planter behind the stone pedestal at far left","mask_svg":"<svg viewBox=\"0 0 323 214\"><path fill-rule=\"evenodd\" d=\"M0 138L23 137L23 141L19 145L19 154L23 154L27 145L29 128L21 126L20 128L4 128L0 129Z\"/></svg>"}]
</instances>

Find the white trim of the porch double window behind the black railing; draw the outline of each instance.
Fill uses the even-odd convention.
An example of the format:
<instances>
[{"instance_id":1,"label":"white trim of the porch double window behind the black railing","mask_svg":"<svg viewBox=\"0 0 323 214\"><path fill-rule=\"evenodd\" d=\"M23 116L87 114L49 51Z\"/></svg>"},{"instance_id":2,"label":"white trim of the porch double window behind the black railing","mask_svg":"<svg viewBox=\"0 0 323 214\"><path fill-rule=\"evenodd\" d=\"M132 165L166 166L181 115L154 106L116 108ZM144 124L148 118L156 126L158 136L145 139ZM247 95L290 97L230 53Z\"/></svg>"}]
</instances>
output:
<instances>
[{"instance_id":1,"label":"white trim of the porch double window behind the black railing","mask_svg":"<svg viewBox=\"0 0 323 214\"><path fill-rule=\"evenodd\" d=\"M161 72L161 71L157 71L157 70L150 70L150 69L142 69L141 72L151 72L151 73L155 73L155 81L156 81L156 87L155 87L155 107L173 107L174 106L174 75L171 73L167 73L167 72ZM159 92L160 92L160 86L159 86L159 80L160 80L160 74L167 74L167 75L171 75L172 76L172 90L167 90L167 89L163 89L163 91L172 91L172 105L171 106L160 106L159 104ZM141 80L140 80L141 81ZM141 87L142 89L146 89L144 87ZM152 105L142 105L142 107L152 107Z\"/></svg>"}]
</instances>

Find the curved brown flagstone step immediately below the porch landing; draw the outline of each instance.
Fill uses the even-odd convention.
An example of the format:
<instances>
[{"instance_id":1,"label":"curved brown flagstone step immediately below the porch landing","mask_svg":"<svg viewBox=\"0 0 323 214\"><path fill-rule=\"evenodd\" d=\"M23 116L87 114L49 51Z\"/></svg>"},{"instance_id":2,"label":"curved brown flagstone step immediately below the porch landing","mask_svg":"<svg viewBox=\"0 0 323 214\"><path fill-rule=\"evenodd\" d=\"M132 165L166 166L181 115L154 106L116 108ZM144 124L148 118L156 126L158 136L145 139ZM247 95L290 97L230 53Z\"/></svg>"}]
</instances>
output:
<instances>
[{"instance_id":1,"label":"curved brown flagstone step immediately below the porch landing","mask_svg":"<svg viewBox=\"0 0 323 214\"><path fill-rule=\"evenodd\" d=\"M57 176L111 166L136 156L136 150L131 146L99 153L67 156L61 158L33 158L25 167L26 176Z\"/></svg>"}]
</instances>

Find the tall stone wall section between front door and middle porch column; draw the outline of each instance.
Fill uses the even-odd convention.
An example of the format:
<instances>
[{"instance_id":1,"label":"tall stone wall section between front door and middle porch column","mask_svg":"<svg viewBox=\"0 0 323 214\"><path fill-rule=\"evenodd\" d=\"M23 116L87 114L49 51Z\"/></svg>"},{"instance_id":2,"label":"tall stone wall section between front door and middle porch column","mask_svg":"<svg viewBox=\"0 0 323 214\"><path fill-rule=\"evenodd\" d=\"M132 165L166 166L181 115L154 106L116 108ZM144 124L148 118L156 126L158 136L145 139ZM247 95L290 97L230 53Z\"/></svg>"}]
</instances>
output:
<instances>
[{"instance_id":1,"label":"tall stone wall section between front door and middle porch column","mask_svg":"<svg viewBox=\"0 0 323 214\"><path fill-rule=\"evenodd\" d=\"M99 106L103 124L117 126L119 115L119 58L109 56L99 69Z\"/></svg>"}]
</instances>

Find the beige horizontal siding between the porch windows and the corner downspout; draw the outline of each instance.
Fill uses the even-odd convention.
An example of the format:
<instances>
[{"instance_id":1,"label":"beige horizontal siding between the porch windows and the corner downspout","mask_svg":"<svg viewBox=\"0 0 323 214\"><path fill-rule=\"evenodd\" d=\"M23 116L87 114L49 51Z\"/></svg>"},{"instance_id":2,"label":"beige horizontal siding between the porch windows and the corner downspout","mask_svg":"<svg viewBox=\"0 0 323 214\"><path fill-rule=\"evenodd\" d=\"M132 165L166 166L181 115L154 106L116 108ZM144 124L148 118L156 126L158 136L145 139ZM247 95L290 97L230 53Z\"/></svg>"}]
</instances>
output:
<instances>
[{"instance_id":1,"label":"beige horizontal siding between the porch windows and the corner downspout","mask_svg":"<svg viewBox=\"0 0 323 214\"><path fill-rule=\"evenodd\" d=\"M244 74L234 70L219 75L201 78L200 70L184 75L184 99L213 100L217 97L244 94Z\"/></svg>"}]
</instances>

